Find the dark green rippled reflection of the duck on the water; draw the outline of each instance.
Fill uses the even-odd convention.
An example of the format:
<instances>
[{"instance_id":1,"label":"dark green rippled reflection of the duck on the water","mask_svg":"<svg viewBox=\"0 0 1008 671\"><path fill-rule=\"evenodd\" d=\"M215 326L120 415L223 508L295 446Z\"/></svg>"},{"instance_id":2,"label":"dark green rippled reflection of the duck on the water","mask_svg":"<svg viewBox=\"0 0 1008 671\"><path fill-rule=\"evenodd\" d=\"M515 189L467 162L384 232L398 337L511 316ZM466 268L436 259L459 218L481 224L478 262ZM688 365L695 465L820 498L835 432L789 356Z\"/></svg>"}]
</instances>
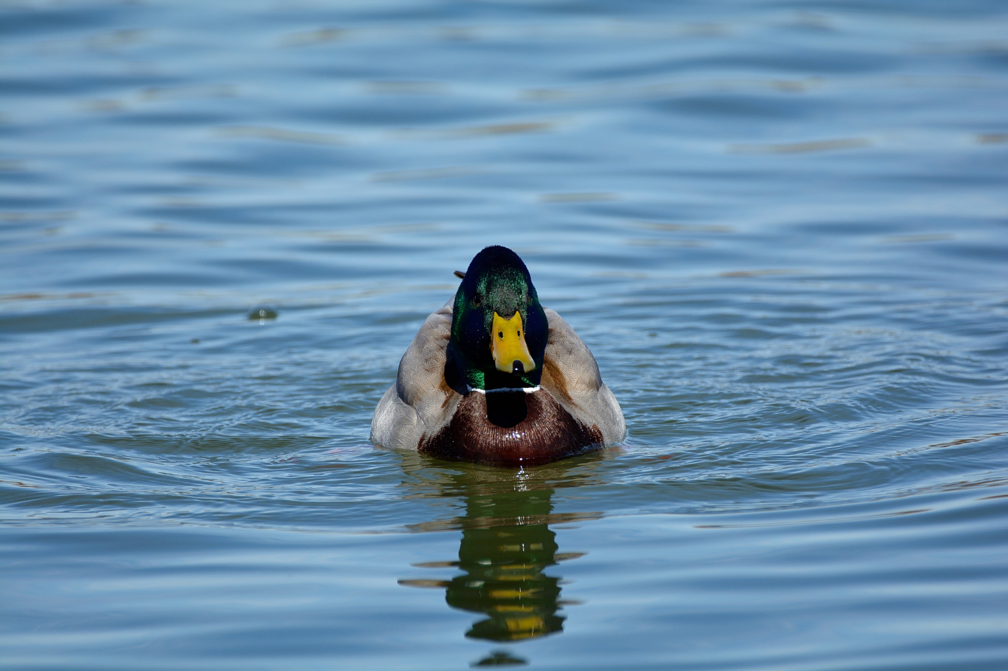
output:
<instances>
[{"instance_id":1,"label":"dark green rippled reflection of the duck on the water","mask_svg":"<svg viewBox=\"0 0 1008 671\"><path fill-rule=\"evenodd\" d=\"M416 466L422 469L421 465ZM407 473L412 470L404 467ZM527 473L502 472L471 464L453 465L451 471L433 471L433 482L439 485L433 495L453 498L461 495L466 505L465 515L418 524L412 529L461 528L459 560L413 565L455 567L463 574L449 580L404 579L399 583L444 588L449 606L485 616L466 632L468 638L516 642L563 631L565 618L557 615L557 611L576 602L560 600L561 578L547 574L546 569L584 553L558 552L556 534L549 524L598 519L601 514L553 513L554 489L546 484L549 478L542 477L550 473L548 469L536 471L533 479ZM424 475L428 477L423 478L423 483L433 484L429 478L431 471Z\"/></svg>"}]
</instances>

